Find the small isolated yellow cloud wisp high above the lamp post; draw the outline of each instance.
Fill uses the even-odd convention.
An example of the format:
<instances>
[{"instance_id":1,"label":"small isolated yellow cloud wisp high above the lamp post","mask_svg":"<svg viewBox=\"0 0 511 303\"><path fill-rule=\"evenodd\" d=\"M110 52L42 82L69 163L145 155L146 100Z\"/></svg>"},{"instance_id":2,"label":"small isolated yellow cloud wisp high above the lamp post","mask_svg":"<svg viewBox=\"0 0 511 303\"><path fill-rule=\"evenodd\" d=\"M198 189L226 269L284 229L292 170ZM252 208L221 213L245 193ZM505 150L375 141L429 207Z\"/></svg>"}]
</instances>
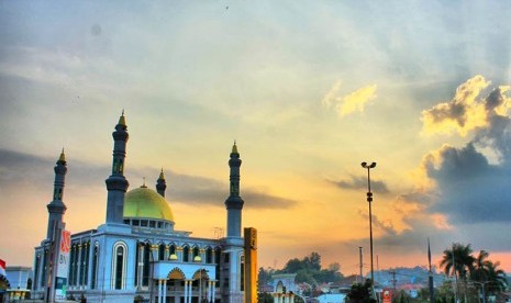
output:
<instances>
[{"instance_id":1,"label":"small isolated yellow cloud wisp high above the lamp post","mask_svg":"<svg viewBox=\"0 0 511 303\"><path fill-rule=\"evenodd\" d=\"M341 81L336 81L321 100L321 103L326 109L332 108L332 105L335 106L340 116L356 111L364 112L366 103L376 98L376 85L359 88L345 97L338 96L340 88Z\"/></svg>"}]
</instances>

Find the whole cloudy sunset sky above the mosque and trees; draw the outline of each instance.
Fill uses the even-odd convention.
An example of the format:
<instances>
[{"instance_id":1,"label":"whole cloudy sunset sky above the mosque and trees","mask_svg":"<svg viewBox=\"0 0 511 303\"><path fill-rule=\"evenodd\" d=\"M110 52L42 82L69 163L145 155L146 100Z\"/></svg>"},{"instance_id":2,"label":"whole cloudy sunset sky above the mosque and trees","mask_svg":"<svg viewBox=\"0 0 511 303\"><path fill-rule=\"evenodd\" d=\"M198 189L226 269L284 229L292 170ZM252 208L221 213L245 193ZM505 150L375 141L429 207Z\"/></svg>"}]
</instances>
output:
<instances>
[{"instance_id":1,"label":"whole cloudy sunset sky above the mosque and trees","mask_svg":"<svg viewBox=\"0 0 511 303\"><path fill-rule=\"evenodd\" d=\"M163 168L178 231L226 224L229 154L258 263L511 272L508 1L0 1L0 258L32 266L65 149L66 227L104 223L124 111L130 189Z\"/></svg>"}]
</instances>

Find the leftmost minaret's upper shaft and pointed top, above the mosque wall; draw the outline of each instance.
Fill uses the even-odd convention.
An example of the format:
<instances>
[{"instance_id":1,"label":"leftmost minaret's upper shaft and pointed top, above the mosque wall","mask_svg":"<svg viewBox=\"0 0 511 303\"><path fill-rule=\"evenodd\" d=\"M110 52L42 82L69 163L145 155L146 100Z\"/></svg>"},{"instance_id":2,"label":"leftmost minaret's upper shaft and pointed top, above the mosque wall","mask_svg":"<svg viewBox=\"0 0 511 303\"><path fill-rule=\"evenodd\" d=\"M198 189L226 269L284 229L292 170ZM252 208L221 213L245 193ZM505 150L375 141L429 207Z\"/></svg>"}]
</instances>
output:
<instances>
[{"instance_id":1,"label":"leftmost minaret's upper shaft and pointed top, above the mosque wall","mask_svg":"<svg viewBox=\"0 0 511 303\"><path fill-rule=\"evenodd\" d=\"M46 232L47 239L52 239L55 228L60 227L64 213L67 210L66 204L63 202L64 183L67 173L67 162L66 156L64 155L64 148L55 165L54 171L55 182L53 187L53 201L46 205L48 209L48 229Z\"/></svg>"}]
</instances>

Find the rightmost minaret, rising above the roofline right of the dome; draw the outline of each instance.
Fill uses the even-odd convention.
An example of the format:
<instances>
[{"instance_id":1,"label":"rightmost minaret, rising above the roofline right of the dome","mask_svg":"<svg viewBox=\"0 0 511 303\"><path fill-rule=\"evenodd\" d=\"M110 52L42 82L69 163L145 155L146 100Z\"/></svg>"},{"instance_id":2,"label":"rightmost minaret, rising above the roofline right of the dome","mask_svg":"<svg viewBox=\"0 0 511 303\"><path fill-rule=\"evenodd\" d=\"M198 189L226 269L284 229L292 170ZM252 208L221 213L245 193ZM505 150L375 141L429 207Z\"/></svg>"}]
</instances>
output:
<instances>
[{"instance_id":1,"label":"rightmost minaret, rising above the roofline right of the dome","mask_svg":"<svg viewBox=\"0 0 511 303\"><path fill-rule=\"evenodd\" d=\"M234 142L231 152L231 159L229 166L231 167L231 190L227 200L225 200L225 207L227 209L227 237L241 237L242 233L242 209L243 200L240 197L240 166L242 160L237 153L236 142Z\"/></svg>"}]
</instances>

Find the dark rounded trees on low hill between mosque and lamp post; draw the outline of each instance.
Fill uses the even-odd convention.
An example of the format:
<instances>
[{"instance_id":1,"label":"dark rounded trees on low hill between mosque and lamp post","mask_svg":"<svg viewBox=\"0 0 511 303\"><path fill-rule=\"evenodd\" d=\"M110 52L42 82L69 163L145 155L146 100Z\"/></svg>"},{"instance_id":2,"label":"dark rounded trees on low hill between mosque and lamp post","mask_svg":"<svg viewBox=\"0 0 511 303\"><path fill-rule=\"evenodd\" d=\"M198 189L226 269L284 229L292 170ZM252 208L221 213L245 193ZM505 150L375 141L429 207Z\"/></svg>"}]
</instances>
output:
<instances>
[{"instance_id":1,"label":"dark rounded trees on low hill between mosque and lamp post","mask_svg":"<svg viewBox=\"0 0 511 303\"><path fill-rule=\"evenodd\" d=\"M259 268L259 284L268 284L273 274L296 273L297 283L309 283L318 285L320 283L338 282L343 279L338 263L331 263L327 268L321 267L321 256L318 252L311 252L302 259L293 258L286 262L282 269Z\"/></svg>"}]
</instances>

